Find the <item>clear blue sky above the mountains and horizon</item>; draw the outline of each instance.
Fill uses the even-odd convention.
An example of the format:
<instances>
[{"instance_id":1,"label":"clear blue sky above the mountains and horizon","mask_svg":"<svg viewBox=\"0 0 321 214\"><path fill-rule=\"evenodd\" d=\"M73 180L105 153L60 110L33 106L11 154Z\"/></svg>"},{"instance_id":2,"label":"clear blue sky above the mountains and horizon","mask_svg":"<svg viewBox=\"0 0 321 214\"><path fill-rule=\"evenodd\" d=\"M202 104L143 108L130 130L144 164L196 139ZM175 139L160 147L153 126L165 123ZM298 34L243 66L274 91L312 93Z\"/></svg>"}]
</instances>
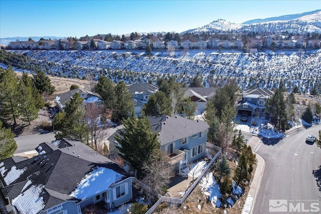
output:
<instances>
[{"instance_id":1,"label":"clear blue sky above the mountains and horizon","mask_svg":"<svg viewBox=\"0 0 321 214\"><path fill-rule=\"evenodd\" d=\"M321 9L321 1L0 0L0 38L177 32Z\"/></svg>"}]
</instances>

